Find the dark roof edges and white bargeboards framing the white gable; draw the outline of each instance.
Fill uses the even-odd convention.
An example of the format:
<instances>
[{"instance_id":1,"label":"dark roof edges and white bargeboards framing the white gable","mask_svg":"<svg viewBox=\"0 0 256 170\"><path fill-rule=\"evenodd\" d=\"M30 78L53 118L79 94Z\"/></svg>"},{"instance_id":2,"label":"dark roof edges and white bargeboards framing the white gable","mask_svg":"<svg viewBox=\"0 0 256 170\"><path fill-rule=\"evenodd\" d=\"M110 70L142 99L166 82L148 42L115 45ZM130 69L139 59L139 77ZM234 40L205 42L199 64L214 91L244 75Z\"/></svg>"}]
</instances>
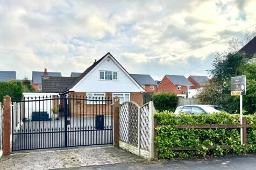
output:
<instances>
[{"instance_id":1,"label":"dark roof edges and white bargeboards framing the white gable","mask_svg":"<svg viewBox=\"0 0 256 170\"><path fill-rule=\"evenodd\" d=\"M91 70L93 70L95 68L95 66L97 64L99 64L106 56L111 56L113 58L113 60L115 60L116 63L118 63L120 65L120 67L127 73L127 75L134 80L134 82L141 88L141 90L143 90L143 87L141 87L141 85L132 77L130 76L130 74L123 68L123 66L115 59L115 57L113 57L110 53L105 54L103 57L101 57L98 61L95 61L93 63L93 65L89 66L89 68L87 68L79 77L76 78L76 80L68 87L66 88L65 91L63 91L62 93L65 93L67 91L69 91L71 88L73 88L77 83L80 82L80 80L86 76ZM145 90L143 90L145 91Z\"/></svg>"}]
</instances>

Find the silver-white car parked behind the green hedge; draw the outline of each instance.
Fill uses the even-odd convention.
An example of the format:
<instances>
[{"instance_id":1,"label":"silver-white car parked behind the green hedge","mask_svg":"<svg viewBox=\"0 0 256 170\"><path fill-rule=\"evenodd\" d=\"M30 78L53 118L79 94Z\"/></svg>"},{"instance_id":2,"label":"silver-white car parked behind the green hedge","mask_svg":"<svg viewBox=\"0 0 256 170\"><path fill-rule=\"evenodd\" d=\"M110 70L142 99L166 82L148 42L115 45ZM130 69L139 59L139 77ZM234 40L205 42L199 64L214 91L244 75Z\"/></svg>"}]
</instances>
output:
<instances>
[{"instance_id":1,"label":"silver-white car parked behind the green hedge","mask_svg":"<svg viewBox=\"0 0 256 170\"><path fill-rule=\"evenodd\" d=\"M177 107L174 114L179 114L181 112L184 112L184 114L211 114L214 112L219 113L221 111L231 113L229 110L223 107L214 105L185 105Z\"/></svg>"}]
</instances>

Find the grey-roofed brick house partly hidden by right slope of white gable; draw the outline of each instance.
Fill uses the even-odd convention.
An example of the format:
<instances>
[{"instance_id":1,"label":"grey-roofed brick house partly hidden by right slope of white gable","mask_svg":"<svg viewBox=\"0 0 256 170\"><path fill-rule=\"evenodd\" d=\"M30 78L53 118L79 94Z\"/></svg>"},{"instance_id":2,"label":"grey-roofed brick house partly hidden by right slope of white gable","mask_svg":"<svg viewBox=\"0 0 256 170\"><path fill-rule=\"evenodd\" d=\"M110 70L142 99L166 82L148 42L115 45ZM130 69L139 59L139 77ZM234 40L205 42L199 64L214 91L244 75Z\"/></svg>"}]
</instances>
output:
<instances>
[{"instance_id":1,"label":"grey-roofed brick house partly hidden by right slope of white gable","mask_svg":"<svg viewBox=\"0 0 256 170\"><path fill-rule=\"evenodd\" d=\"M130 74L146 91L157 93L157 84L150 75Z\"/></svg>"}]
</instances>

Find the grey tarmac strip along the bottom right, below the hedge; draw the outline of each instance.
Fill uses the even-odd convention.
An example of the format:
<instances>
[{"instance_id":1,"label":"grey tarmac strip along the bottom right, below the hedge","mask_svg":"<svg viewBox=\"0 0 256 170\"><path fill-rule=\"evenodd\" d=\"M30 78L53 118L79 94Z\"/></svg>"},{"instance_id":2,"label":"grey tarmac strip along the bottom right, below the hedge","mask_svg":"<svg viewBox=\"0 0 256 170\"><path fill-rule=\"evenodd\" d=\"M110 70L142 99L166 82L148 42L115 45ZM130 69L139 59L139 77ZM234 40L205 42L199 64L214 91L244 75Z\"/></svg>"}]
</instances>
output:
<instances>
[{"instance_id":1,"label":"grey tarmac strip along the bottom right, below the hedge","mask_svg":"<svg viewBox=\"0 0 256 170\"><path fill-rule=\"evenodd\" d=\"M159 160L153 162L138 162L134 164L115 164L105 166L92 166L72 168L72 170L96 170L96 169L189 169L189 170L229 170L229 169L256 169L256 156L226 156L211 159L184 159L184 160Z\"/></svg>"}]
</instances>

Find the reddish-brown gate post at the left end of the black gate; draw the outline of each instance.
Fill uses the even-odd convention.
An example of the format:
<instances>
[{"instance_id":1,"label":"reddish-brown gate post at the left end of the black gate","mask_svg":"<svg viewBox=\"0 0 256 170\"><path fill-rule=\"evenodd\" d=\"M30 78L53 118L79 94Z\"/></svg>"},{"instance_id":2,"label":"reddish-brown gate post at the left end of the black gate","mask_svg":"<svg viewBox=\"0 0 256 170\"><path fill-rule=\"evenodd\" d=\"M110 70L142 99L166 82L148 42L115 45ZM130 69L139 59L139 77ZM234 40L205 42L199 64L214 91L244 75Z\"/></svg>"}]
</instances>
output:
<instances>
[{"instance_id":1,"label":"reddish-brown gate post at the left end of the black gate","mask_svg":"<svg viewBox=\"0 0 256 170\"><path fill-rule=\"evenodd\" d=\"M4 97L4 128L3 128L3 156L8 156L11 152L11 98Z\"/></svg>"}]
</instances>

